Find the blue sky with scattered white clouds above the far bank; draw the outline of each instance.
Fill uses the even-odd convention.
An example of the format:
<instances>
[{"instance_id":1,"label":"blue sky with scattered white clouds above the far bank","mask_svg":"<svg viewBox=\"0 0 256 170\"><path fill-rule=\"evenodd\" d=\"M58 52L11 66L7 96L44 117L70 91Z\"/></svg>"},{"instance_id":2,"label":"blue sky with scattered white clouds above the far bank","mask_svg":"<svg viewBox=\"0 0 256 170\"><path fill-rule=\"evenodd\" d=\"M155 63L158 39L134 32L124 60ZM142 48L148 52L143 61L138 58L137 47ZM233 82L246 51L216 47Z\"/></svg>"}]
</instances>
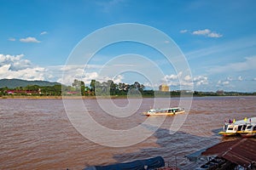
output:
<instances>
[{"instance_id":1,"label":"blue sky with scattered white clouds above the far bank","mask_svg":"<svg viewBox=\"0 0 256 170\"><path fill-rule=\"evenodd\" d=\"M254 0L0 0L0 79L67 85L74 78L87 85L91 79L112 79L154 89L166 83L171 90L256 92L255 8ZM175 44L183 65L176 65L174 58L170 63L157 48L129 41L114 42L88 61L79 57L69 65L86 37L125 23L165 34L170 39L159 47ZM158 40L148 31L124 32L135 39ZM113 37L103 34L92 43ZM80 52L90 55L86 52L92 46L83 48Z\"/></svg>"}]
</instances>

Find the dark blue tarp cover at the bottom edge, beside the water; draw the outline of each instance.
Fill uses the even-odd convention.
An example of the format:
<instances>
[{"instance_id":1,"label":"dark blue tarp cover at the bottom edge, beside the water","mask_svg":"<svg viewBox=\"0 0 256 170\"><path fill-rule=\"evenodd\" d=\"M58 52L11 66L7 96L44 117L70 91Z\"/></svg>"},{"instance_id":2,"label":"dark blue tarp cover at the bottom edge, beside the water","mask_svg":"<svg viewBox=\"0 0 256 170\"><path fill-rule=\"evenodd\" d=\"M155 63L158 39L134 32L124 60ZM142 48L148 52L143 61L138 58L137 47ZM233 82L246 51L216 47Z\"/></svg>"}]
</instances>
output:
<instances>
[{"instance_id":1,"label":"dark blue tarp cover at the bottom edge, beside the water","mask_svg":"<svg viewBox=\"0 0 256 170\"><path fill-rule=\"evenodd\" d=\"M117 163L108 166L86 167L84 170L145 170L165 167L165 161L161 156L146 160L137 160L127 163Z\"/></svg>"}]
</instances>

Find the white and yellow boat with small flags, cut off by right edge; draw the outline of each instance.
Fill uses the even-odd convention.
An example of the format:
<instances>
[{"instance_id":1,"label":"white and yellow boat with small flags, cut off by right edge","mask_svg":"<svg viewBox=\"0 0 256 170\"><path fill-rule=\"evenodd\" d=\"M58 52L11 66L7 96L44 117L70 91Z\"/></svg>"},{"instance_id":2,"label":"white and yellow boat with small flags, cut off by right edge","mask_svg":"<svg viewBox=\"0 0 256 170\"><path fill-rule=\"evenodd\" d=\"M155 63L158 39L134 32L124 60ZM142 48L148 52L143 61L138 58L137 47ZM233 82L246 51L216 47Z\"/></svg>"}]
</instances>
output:
<instances>
[{"instance_id":1,"label":"white and yellow boat with small flags, cut off by right edge","mask_svg":"<svg viewBox=\"0 0 256 170\"><path fill-rule=\"evenodd\" d=\"M234 136L249 133L247 127L256 124L256 117L245 118L241 121L229 122L224 124L223 131L219 132L223 136ZM252 132L253 133L253 132Z\"/></svg>"}]
</instances>

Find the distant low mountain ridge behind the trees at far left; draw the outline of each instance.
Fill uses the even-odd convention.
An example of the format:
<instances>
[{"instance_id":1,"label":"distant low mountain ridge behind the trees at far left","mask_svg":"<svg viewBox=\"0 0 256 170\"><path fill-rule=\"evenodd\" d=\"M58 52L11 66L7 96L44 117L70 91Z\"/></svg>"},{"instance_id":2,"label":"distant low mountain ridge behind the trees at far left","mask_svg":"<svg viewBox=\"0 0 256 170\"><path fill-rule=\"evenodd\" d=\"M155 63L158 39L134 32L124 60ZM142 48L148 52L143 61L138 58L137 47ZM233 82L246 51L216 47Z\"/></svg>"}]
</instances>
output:
<instances>
[{"instance_id":1,"label":"distant low mountain ridge behind the trees at far left","mask_svg":"<svg viewBox=\"0 0 256 170\"><path fill-rule=\"evenodd\" d=\"M0 80L0 88L18 88L18 87L26 87L28 85L38 85L38 86L54 86L56 84L61 85L59 82L48 82L48 81L27 81L20 79L1 79Z\"/></svg>"}]
</instances>

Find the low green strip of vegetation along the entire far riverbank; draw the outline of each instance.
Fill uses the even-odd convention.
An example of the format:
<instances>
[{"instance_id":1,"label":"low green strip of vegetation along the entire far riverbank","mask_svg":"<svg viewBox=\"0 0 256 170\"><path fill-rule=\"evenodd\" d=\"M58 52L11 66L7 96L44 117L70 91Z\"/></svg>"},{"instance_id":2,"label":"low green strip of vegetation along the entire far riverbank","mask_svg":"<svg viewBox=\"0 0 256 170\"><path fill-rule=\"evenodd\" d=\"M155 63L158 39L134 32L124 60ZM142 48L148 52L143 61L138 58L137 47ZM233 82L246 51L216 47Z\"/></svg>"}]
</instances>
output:
<instances>
[{"instance_id":1,"label":"low green strip of vegetation along the entire far riverbank","mask_svg":"<svg viewBox=\"0 0 256 170\"><path fill-rule=\"evenodd\" d=\"M238 95L256 95L254 93L242 93L242 92L224 92L218 90L217 92L198 92L198 91L188 91L188 90L173 90L169 92L155 91L152 89L145 89L145 86L139 82L134 82L133 84L127 84L123 82L114 83L112 80L107 82L98 82L96 80L91 80L90 85L86 86L83 81L75 79L71 86L63 85L61 83L43 83L42 84L32 84L16 87L0 87L0 96L2 98L7 97L44 97L44 96L111 96L111 97L126 97L131 95L134 97L180 97L180 96L238 96ZM34 82L35 83L35 82Z\"/></svg>"}]
</instances>

